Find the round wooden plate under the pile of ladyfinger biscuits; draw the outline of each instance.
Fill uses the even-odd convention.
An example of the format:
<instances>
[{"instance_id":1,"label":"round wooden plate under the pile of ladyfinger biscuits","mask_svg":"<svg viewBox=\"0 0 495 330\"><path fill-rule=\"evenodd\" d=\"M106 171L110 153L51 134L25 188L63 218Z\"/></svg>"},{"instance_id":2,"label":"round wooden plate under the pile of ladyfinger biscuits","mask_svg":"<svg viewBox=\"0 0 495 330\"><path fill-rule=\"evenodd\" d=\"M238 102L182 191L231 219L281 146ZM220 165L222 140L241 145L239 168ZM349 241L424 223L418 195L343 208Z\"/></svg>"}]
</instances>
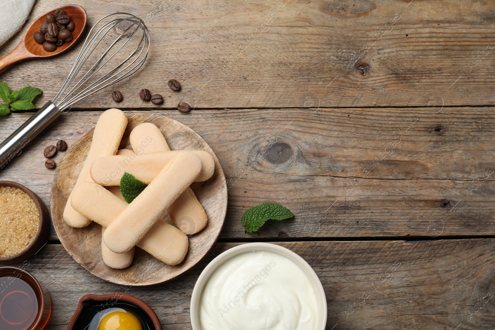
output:
<instances>
[{"instance_id":1,"label":"round wooden plate under the pile of ladyfinger biscuits","mask_svg":"<svg viewBox=\"0 0 495 330\"><path fill-rule=\"evenodd\" d=\"M117 270L105 265L101 258L101 227L91 223L85 228L72 228L63 220L67 197L72 191L93 138L94 128L77 139L65 152L57 167L51 186L51 216L55 232L63 247L91 274L108 282L123 285L152 285L163 283L183 274L196 265L215 243L227 211L227 184L220 163L210 146L198 133L172 118L160 114L126 113L128 124L120 148L131 149L129 134L137 125L145 122L160 128L170 149L193 149L209 152L215 160L215 173L205 182L191 185L208 216L206 227L189 236L189 251L182 263L167 265L136 247L134 260L126 269ZM167 215L167 221L173 222Z\"/></svg>"}]
</instances>

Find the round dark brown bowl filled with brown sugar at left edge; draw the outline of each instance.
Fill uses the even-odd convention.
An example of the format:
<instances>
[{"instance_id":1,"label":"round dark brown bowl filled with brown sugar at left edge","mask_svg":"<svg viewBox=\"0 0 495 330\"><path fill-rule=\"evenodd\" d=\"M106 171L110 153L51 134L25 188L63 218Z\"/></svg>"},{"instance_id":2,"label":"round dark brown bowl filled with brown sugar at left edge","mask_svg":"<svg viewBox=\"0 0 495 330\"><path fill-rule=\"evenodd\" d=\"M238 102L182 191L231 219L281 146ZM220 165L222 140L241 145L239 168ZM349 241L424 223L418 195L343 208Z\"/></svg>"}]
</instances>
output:
<instances>
[{"instance_id":1,"label":"round dark brown bowl filled with brown sugar at left edge","mask_svg":"<svg viewBox=\"0 0 495 330\"><path fill-rule=\"evenodd\" d=\"M0 264L23 262L48 240L48 209L27 187L0 181L0 228Z\"/></svg>"}]
</instances>

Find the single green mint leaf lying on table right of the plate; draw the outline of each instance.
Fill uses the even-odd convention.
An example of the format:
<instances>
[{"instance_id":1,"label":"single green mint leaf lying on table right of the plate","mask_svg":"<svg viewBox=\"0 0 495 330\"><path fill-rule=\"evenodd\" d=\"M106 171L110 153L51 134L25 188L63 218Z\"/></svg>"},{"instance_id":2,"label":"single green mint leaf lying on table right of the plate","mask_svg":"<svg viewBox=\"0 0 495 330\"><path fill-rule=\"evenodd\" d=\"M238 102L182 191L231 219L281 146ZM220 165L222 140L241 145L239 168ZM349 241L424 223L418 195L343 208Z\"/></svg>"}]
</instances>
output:
<instances>
[{"instance_id":1,"label":"single green mint leaf lying on table right of the plate","mask_svg":"<svg viewBox=\"0 0 495 330\"><path fill-rule=\"evenodd\" d=\"M246 227L245 231L252 233L260 229L267 220L285 220L292 217L294 217L294 214L285 206L263 203L244 212L241 224Z\"/></svg>"}]
</instances>

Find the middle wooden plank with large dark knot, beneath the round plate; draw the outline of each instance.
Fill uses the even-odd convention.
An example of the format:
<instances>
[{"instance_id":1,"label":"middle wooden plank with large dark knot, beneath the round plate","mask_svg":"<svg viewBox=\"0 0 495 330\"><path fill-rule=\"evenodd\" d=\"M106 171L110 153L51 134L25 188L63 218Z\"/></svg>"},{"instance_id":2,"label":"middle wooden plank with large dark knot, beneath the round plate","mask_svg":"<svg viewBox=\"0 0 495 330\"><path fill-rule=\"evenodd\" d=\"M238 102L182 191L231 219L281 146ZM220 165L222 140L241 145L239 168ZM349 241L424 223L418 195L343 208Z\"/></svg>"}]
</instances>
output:
<instances>
[{"instance_id":1,"label":"middle wooden plank with large dark knot, beneath the round plate","mask_svg":"<svg viewBox=\"0 0 495 330\"><path fill-rule=\"evenodd\" d=\"M160 113L198 132L222 165L229 208L220 237L257 239L494 235L493 110ZM58 139L70 146L95 125L99 114L59 117L0 170L0 179L29 187L49 206L53 171L43 165L43 149ZM0 118L7 128L0 131L0 139L27 116ZM433 130L437 126L445 132ZM62 156L58 153L55 161ZM445 207L443 200L449 201ZM246 234L240 225L242 214L266 201L288 206L296 217L268 222L258 233ZM56 239L53 232L51 237Z\"/></svg>"}]
</instances>

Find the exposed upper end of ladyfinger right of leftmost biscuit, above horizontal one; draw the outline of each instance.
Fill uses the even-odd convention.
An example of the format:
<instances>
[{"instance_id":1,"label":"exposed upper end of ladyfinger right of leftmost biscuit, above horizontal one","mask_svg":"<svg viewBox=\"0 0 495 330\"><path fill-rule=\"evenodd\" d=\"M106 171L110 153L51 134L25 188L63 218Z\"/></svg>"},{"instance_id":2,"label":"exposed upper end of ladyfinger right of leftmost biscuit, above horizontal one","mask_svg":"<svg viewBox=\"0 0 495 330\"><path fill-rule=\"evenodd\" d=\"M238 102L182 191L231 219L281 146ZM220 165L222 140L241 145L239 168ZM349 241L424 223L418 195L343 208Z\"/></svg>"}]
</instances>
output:
<instances>
[{"instance_id":1,"label":"exposed upper end of ladyfinger right of leftmost biscuit, above horizontal one","mask_svg":"<svg viewBox=\"0 0 495 330\"><path fill-rule=\"evenodd\" d=\"M170 151L160 129L151 123L142 123L133 128L129 142L135 153L142 155L157 151Z\"/></svg>"}]
</instances>

